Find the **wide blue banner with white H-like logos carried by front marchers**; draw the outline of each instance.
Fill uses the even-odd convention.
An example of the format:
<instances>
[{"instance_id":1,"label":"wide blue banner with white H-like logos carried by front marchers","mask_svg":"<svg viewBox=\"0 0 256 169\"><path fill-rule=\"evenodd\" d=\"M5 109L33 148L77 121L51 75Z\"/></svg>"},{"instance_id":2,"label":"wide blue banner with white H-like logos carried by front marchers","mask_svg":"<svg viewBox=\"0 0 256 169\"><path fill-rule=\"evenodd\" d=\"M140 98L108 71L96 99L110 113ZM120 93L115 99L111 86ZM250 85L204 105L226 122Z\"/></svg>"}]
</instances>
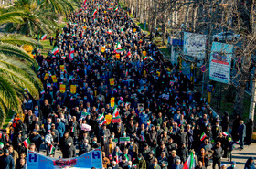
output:
<instances>
[{"instance_id":1,"label":"wide blue banner with white H-like logos carried by front marchers","mask_svg":"<svg viewBox=\"0 0 256 169\"><path fill-rule=\"evenodd\" d=\"M45 168L80 168L80 169L103 168L101 149L94 149L75 158L50 158L40 153L27 151L27 169Z\"/></svg>"}]
</instances>

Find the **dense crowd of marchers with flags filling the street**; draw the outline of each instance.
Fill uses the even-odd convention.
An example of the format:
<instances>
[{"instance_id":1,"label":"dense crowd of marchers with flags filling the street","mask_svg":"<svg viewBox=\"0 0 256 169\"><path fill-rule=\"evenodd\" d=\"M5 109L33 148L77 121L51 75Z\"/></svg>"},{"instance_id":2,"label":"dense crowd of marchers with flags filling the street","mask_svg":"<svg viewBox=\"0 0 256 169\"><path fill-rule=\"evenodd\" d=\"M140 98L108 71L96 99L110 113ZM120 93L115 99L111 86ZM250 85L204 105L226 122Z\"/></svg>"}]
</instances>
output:
<instances>
[{"instance_id":1,"label":"dense crowd of marchers with flags filling the street","mask_svg":"<svg viewBox=\"0 0 256 169\"><path fill-rule=\"evenodd\" d=\"M101 147L110 169L182 169L190 153L197 169L225 169L221 158L237 168L232 150L251 144L251 120L238 115L229 133L229 114L214 113L117 2L81 5L48 56L36 52L44 89L39 100L24 90L23 116L0 134L0 168L25 168L27 148L58 157L52 146L63 158Z\"/></svg>"}]
</instances>

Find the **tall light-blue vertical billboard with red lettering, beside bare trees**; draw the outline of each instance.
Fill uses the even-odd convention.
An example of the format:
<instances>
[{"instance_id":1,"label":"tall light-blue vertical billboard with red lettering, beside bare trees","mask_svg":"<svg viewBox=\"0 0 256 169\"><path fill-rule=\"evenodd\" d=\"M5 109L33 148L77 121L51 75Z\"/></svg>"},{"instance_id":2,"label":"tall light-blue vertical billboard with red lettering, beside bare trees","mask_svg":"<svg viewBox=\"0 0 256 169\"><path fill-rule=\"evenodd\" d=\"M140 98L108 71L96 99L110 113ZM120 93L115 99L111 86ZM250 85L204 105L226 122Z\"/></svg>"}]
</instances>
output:
<instances>
[{"instance_id":1,"label":"tall light-blue vertical billboard with red lettering, beside bare trees","mask_svg":"<svg viewBox=\"0 0 256 169\"><path fill-rule=\"evenodd\" d=\"M209 79L230 83L231 58L233 45L213 42L209 59Z\"/></svg>"}]
</instances>

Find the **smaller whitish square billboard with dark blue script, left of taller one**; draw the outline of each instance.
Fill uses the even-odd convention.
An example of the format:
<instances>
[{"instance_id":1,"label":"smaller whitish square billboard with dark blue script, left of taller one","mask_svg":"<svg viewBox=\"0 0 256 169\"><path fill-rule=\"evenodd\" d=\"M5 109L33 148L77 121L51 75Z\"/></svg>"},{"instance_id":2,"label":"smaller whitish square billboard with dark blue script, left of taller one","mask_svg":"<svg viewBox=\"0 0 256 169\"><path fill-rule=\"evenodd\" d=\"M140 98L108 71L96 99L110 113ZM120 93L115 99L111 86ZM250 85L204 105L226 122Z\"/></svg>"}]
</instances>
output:
<instances>
[{"instance_id":1,"label":"smaller whitish square billboard with dark blue script, left of taller one","mask_svg":"<svg viewBox=\"0 0 256 169\"><path fill-rule=\"evenodd\" d=\"M184 32L183 54L191 57L203 59L206 53L207 36Z\"/></svg>"}]
</instances>

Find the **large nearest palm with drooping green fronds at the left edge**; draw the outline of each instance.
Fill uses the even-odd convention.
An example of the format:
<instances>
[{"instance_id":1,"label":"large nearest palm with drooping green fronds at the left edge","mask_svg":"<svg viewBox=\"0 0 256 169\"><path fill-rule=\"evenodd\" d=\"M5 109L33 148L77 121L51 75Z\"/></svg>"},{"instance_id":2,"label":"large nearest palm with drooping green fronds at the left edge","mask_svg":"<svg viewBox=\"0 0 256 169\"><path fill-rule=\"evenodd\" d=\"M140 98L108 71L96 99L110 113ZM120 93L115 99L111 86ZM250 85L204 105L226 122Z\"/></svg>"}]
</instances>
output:
<instances>
[{"instance_id":1,"label":"large nearest palm with drooping green fronds at the left edge","mask_svg":"<svg viewBox=\"0 0 256 169\"><path fill-rule=\"evenodd\" d=\"M0 34L0 127L9 110L21 111L25 88L35 99L39 98L38 90L42 89L41 81L31 69L37 67L37 62L20 48L24 44L41 47L30 37Z\"/></svg>"}]
</instances>

